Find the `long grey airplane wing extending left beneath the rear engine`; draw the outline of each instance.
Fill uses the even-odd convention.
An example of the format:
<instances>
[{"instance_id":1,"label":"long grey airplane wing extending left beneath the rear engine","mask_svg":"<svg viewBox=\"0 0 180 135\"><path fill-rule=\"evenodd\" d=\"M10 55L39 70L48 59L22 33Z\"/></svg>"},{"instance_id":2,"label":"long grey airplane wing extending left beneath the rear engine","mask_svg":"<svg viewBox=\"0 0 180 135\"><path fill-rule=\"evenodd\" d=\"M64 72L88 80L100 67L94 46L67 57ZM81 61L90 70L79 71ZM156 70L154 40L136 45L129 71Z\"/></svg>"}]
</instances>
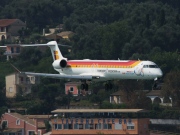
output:
<instances>
[{"instance_id":1,"label":"long grey airplane wing extending left beneath the rear engine","mask_svg":"<svg viewBox=\"0 0 180 135\"><path fill-rule=\"evenodd\" d=\"M47 73L33 73L33 72L21 72L21 74L32 75L32 76L41 76L47 78L56 78L56 79L87 79L92 80L92 75L62 75L62 74L47 74Z\"/></svg>"}]
</instances>

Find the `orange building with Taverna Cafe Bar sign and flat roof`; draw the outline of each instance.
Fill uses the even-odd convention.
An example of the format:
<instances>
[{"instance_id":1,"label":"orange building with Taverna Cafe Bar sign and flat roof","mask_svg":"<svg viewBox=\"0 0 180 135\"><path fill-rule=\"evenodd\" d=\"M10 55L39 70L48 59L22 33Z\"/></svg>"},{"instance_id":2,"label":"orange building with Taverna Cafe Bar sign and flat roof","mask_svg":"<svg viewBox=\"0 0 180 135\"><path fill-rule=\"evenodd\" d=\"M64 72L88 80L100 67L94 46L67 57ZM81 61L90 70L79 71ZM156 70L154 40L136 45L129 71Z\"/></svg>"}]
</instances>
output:
<instances>
[{"instance_id":1,"label":"orange building with Taverna Cafe Bar sign and flat roof","mask_svg":"<svg viewBox=\"0 0 180 135\"><path fill-rule=\"evenodd\" d=\"M57 109L51 135L149 135L143 109ZM131 114L131 115L130 115ZM131 116L131 117L130 117Z\"/></svg>"}]
</instances>

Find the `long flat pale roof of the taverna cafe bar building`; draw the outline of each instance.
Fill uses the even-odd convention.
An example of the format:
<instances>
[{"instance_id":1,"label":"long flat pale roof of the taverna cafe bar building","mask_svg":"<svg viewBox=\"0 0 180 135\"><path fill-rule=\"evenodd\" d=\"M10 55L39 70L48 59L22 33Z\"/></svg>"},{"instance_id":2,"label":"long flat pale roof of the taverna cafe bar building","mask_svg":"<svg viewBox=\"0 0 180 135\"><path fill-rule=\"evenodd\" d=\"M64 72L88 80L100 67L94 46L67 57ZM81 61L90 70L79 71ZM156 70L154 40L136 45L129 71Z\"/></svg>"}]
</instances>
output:
<instances>
[{"instance_id":1,"label":"long flat pale roof of the taverna cafe bar building","mask_svg":"<svg viewBox=\"0 0 180 135\"><path fill-rule=\"evenodd\" d=\"M57 109L51 111L52 113L140 113L147 112L144 109Z\"/></svg>"}]
</instances>

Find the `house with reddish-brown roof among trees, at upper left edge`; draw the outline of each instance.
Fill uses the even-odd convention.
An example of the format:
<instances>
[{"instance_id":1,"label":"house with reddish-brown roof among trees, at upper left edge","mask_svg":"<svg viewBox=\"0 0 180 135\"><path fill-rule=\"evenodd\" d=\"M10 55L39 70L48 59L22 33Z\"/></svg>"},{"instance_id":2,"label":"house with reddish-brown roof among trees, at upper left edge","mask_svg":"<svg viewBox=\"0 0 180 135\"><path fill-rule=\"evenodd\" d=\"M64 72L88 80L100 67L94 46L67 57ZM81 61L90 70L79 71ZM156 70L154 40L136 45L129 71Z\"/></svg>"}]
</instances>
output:
<instances>
[{"instance_id":1,"label":"house with reddish-brown roof among trees, at upper left edge","mask_svg":"<svg viewBox=\"0 0 180 135\"><path fill-rule=\"evenodd\" d=\"M26 28L26 24L19 19L0 19L0 41L18 39L18 31Z\"/></svg>"}]
</instances>

